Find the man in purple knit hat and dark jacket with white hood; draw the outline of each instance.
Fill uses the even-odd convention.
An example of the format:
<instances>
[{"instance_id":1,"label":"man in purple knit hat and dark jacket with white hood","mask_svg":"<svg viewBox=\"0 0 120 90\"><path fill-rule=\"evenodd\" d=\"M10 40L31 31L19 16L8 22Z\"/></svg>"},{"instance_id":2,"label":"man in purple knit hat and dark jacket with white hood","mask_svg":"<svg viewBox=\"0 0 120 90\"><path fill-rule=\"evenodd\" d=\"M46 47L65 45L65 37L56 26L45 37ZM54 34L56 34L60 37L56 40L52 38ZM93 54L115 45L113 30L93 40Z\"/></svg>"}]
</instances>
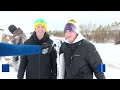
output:
<instances>
[{"instance_id":1,"label":"man in purple knit hat and dark jacket with white hood","mask_svg":"<svg viewBox=\"0 0 120 90\"><path fill-rule=\"evenodd\" d=\"M95 46L85 40L80 34L75 20L65 25L65 42L60 47L60 54L64 53L65 75L64 79L105 79L103 72L98 72L98 65L102 59Z\"/></svg>"}]
</instances>

